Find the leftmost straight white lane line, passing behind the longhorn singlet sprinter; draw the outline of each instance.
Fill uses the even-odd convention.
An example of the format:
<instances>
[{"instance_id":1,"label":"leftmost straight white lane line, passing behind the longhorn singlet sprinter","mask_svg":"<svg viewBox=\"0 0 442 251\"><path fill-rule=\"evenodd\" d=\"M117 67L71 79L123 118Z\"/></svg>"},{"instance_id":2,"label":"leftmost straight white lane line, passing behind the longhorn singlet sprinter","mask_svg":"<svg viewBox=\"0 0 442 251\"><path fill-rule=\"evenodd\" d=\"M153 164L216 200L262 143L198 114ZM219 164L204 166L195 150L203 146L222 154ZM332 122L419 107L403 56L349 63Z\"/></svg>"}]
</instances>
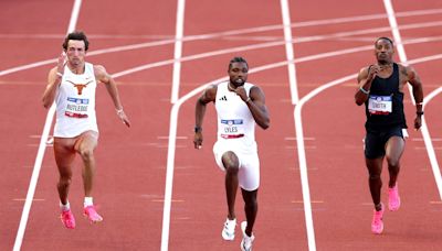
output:
<instances>
[{"instance_id":1,"label":"leftmost straight white lane line, passing behind the longhorn singlet sprinter","mask_svg":"<svg viewBox=\"0 0 442 251\"><path fill-rule=\"evenodd\" d=\"M82 6L82 0L75 0L74 6L72 8L70 25L67 32L72 32L75 30L76 21L80 14L80 8ZM29 184L27 200L24 201L23 211L21 214L19 230L17 231L15 242L13 247L13 251L19 251L21 249L21 244L23 242L24 231L28 225L29 212L31 211L32 201L35 194L36 182L39 181L40 170L43 162L44 151L46 149L48 135L51 130L52 120L55 113L55 105L52 103L51 108L48 111L46 120L44 122L43 133L40 139L39 152L36 153L34 168L32 171L31 182Z\"/></svg>"}]
</instances>

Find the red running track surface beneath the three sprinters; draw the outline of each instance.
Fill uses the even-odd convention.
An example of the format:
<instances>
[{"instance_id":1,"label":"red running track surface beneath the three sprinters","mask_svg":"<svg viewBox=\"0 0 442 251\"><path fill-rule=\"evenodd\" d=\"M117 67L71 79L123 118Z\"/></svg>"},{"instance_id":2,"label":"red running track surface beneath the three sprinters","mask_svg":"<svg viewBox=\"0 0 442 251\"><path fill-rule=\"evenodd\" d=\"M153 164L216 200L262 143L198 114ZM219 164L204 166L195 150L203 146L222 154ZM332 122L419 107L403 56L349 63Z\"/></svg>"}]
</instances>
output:
<instances>
[{"instance_id":1,"label":"red running track surface beneath the three sprinters","mask_svg":"<svg viewBox=\"0 0 442 251\"><path fill-rule=\"evenodd\" d=\"M106 3L83 1L76 23L77 29L90 35L88 59L104 64L117 76L125 109L134 124L127 130L119 123L105 89L99 88L97 113L102 137L96 152L95 201L105 221L90 226L81 219L83 195L78 162L70 196L77 228L69 231L62 227L57 219L56 167L49 146L21 250L161 249L166 170L170 165L168 137L173 72L170 62L173 43L167 41L175 37L177 2ZM436 78L440 59L419 61L441 54L442 6L436 1L392 3L407 56L417 62L413 66L421 75L424 92L431 94L440 87ZM67 30L72 6L73 2L60 1L0 3L0 21L8 24L0 26L3 45L0 46L3 57L0 105L4 114L0 151L3 163L1 250L12 250L17 238L46 116L40 97L52 64L11 74L3 70L54 58ZM234 55L245 56L252 69L286 61L280 2L203 1L197 6L188 1L185 11L187 41L182 50L179 102L201 85L224 77L227 63ZM296 64L296 89L299 99L305 101L302 124L316 249L440 250L441 197L422 134L409 131L400 175L402 208L386 212L385 233L373 236L370 233L372 206L361 150L364 111L352 101L356 80L343 81L306 99L316 88L354 75L375 59L370 48L372 41L381 35L392 36L383 2L365 3L361 8L357 1L344 1L339 6L319 0L291 1L290 14L294 23L295 58L302 59ZM251 30L244 32L243 29ZM212 36L192 39L200 34ZM415 39L422 41L415 42ZM166 42L151 45L158 41ZM280 43L270 46L273 42ZM144 46L120 47L134 44ZM116 48L116 52L102 52L104 48ZM339 52L352 48L354 52ZM202 57L202 53L208 55ZM332 54L326 56L325 53ZM194 55L201 58L190 58ZM318 58L309 58L312 56ZM166 63L158 67L148 65L158 62ZM148 65L145 70L123 72L144 65ZM249 80L264 89L272 119L267 131L257 130L262 184L255 249L312 250L296 142L295 123L299 121L294 119L287 67L282 65L251 74ZM194 100L194 96L189 97L178 111L167 244L169 250L239 250L240 238L233 242L220 238L227 208L223 175L211 153L215 114L213 109L208 110L204 146L201 151L193 150ZM438 117L441 102L441 97L435 96L425 109L438 161L442 157L442 120ZM411 126L413 107L408 94L406 112ZM387 172L383 177L387 178ZM243 220L240 196L236 206L238 217Z\"/></svg>"}]
</instances>

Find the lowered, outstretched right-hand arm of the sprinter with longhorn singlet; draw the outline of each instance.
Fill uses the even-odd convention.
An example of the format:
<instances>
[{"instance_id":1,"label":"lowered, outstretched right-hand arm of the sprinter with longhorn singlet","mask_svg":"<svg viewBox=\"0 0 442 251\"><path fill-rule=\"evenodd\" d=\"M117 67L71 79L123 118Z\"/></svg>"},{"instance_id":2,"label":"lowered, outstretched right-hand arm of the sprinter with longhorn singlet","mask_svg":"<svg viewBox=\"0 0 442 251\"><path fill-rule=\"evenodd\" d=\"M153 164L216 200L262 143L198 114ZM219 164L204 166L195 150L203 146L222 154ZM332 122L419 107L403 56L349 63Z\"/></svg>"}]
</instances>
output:
<instances>
[{"instance_id":1,"label":"lowered, outstretched right-hand arm of the sprinter with longhorn singlet","mask_svg":"<svg viewBox=\"0 0 442 251\"><path fill-rule=\"evenodd\" d=\"M124 124L130 127L130 121L127 118L125 111L123 110L122 101L119 100L117 85L114 78L106 72L105 67L102 65L94 65L95 78L105 84L107 92L109 94L112 101L114 102L117 116L123 121Z\"/></svg>"}]
</instances>

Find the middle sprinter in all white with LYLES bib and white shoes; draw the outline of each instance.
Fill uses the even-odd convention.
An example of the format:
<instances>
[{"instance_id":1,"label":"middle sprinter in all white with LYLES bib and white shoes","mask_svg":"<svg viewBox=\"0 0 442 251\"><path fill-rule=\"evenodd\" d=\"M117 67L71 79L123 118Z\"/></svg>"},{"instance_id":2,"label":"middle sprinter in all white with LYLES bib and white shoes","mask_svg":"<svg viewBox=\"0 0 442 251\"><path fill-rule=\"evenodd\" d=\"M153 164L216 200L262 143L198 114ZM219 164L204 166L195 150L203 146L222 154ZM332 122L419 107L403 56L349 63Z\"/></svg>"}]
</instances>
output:
<instances>
[{"instance_id":1,"label":"middle sprinter in all white with LYLES bib and white shoes","mask_svg":"<svg viewBox=\"0 0 442 251\"><path fill-rule=\"evenodd\" d=\"M262 129L270 126L264 92L246 83L249 65L242 57L229 64L229 81L209 86L196 105L194 148L202 146L202 121L206 106L214 102L218 114L218 140L213 145L218 166L225 172L228 216L221 236L234 239L236 216L234 204L238 186L245 204L246 221L241 223L243 239L241 250L251 250L254 240L253 226L257 212L260 186L260 160L255 142L255 123Z\"/></svg>"}]
</instances>

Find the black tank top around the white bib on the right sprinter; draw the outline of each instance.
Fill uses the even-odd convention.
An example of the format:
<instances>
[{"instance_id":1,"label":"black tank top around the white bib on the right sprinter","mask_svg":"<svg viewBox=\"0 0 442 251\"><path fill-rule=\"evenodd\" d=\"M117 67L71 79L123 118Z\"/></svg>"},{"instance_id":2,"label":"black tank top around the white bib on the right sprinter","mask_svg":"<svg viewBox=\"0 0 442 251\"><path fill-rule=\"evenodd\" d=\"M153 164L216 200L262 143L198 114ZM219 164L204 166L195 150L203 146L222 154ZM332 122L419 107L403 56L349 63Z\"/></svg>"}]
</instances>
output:
<instances>
[{"instance_id":1,"label":"black tank top around the white bib on the right sprinter","mask_svg":"<svg viewBox=\"0 0 442 251\"><path fill-rule=\"evenodd\" d=\"M369 101L378 99L391 100L391 112L373 113L369 110ZM391 97L391 99L389 98ZM403 92L399 91L399 66L393 63L393 73L388 78L378 76L371 83L370 96L366 101L366 129L381 130L396 127L407 128L406 116L403 113Z\"/></svg>"}]
</instances>

